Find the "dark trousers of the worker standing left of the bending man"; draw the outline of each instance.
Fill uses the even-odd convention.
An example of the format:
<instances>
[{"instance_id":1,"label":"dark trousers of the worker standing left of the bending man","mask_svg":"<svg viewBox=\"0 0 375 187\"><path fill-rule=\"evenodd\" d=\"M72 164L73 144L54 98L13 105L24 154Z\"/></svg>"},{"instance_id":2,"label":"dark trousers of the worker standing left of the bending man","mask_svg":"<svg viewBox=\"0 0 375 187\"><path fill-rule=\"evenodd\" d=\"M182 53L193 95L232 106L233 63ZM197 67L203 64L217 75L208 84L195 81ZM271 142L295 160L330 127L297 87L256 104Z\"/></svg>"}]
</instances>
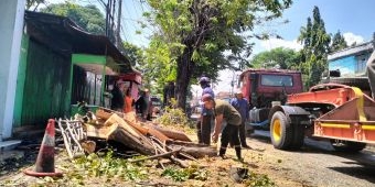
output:
<instances>
[{"instance_id":1,"label":"dark trousers of the worker standing left of the bending man","mask_svg":"<svg viewBox=\"0 0 375 187\"><path fill-rule=\"evenodd\" d=\"M211 121L212 116L202 116L202 120L196 122L197 142L206 145L211 144Z\"/></svg>"}]
</instances>

